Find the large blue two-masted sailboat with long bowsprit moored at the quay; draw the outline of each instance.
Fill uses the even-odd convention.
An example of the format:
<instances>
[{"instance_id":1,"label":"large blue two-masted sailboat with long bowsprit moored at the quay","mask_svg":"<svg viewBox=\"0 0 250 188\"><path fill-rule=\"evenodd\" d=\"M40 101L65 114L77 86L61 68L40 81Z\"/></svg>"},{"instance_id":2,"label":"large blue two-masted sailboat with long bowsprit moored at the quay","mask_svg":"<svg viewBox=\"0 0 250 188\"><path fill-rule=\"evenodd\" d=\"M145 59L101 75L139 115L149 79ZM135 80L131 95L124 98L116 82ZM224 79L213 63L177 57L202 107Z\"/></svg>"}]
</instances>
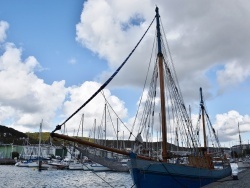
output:
<instances>
[{"instance_id":1,"label":"large blue two-masted sailboat with long bowsprit moored at the quay","mask_svg":"<svg viewBox=\"0 0 250 188\"><path fill-rule=\"evenodd\" d=\"M56 129L51 132L51 137L60 138L72 142L76 142L82 145L91 146L94 148L100 148L103 150L115 152L122 155L129 156L128 161L129 171L131 173L134 185L137 188L143 187L202 187L209 183L212 183L218 179L227 177L231 175L231 167L229 162L223 158L223 151L209 153L206 141L206 132L203 128L204 144L199 145L197 135L193 129L190 117L184 105L184 101L181 95L180 88L178 86L177 77L174 68L170 67L172 65L172 58L167 51L169 51L168 44L163 45L163 35L160 29L160 15L159 8L155 9L156 15L154 20L156 20L156 41L157 41L157 56L154 67L153 81L154 83L150 86L151 89L156 89L156 79L159 79L159 98L160 98L160 114L159 114L159 124L161 125L161 157L154 155L152 148L142 149L143 145L143 130L145 131L145 126L149 127L150 123L154 120L149 118L148 114L154 116L155 112L151 110L152 106L155 106L155 100L149 100L147 105L147 110L144 114L144 119L141 121L142 128L139 130L138 135L135 140L135 147L133 151L119 150L118 148L110 148L97 143L91 143L78 138L73 138L70 136L57 134L55 131L60 130L62 125L64 125L69 119L71 119L77 112L79 112L86 104L88 104L102 89L104 89L109 82L115 77L119 70L123 67L126 61L129 59L131 54L135 51L136 47L139 45L142 38L145 36L144 33L141 40L137 43L136 47L132 50L126 60L121 64L120 67L115 71L115 73L80 107L78 108L68 119L66 119L61 125L57 125ZM153 20L153 21L154 21ZM152 23L153 23L152 21ZM150 26L152 25L150 24ZM149 27L150 27L149 26ZM147 29L148 30L148 29ZM168 56L166 56L169 54ZM165 75L165 77L164 77ZM166 97L165 86L168 86L168 94ZM154 97L156 90L149 90L148 96ZM202 95L201 95L202 96ZM149 108L150 107L150 108ZM166 110L166 107L171 107L171 110ZM203 100L201 99L201 109L203 115L206 115ZM172 116L177 116L177 118L172 118ZM168 118L168 119L167 119ZM171 133L168 129L167 123L175 123L177 128L172 128L172 130L178 130L180 137L182 137L183 142L185 142L186 147L181 147L185 150L185 163L179 163L178 159L180 156L171 153L169 148L167 135ZM168 131L170 131L169 134ZM214 131L214 130L213 130ZM175 131L172 131L172 134ZM149 132L147 131L147 135ZM146 151L146 152L145 152ZM184 153L184 152L183 152ZM223 168L214 168L213 156L217 158L220 157L223 161Z\"/></svg>"}]
</instances>

